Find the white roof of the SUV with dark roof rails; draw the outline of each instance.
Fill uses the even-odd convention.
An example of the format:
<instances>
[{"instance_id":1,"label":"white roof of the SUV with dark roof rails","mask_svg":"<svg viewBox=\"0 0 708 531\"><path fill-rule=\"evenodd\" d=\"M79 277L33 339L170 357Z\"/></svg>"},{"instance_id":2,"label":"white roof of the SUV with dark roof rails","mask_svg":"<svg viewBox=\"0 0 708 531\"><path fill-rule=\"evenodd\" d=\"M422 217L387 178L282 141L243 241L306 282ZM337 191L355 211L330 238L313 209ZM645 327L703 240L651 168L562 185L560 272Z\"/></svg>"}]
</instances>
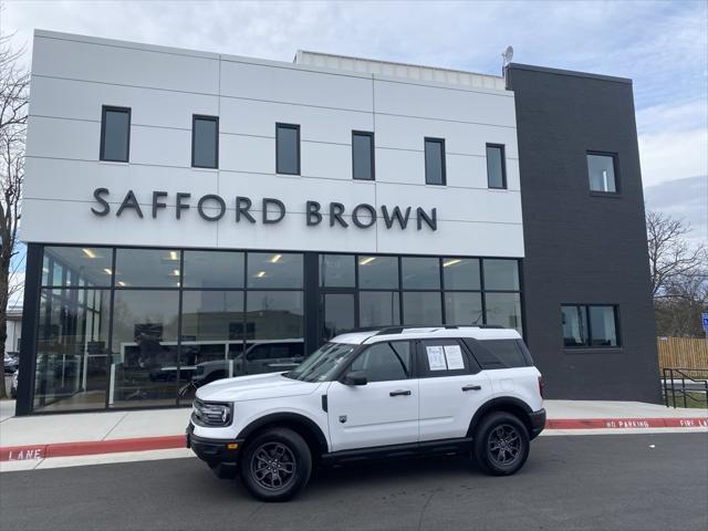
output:
<instances>
[{"instance_id":1,"label":"white roof of the SUV with dark roof rails","mask_svg":"<svg viewBox=\"0 0 708 531\"><path fill-rule=\"evenodd\" d=\"M371 344L395 340L426 340L445 337L472 337L476 340L520 340L514 329L485 326L423 326L423 327L387 327L381 330L354 331L337 335L331 343Z\"/></svg>"}]
</instances>

